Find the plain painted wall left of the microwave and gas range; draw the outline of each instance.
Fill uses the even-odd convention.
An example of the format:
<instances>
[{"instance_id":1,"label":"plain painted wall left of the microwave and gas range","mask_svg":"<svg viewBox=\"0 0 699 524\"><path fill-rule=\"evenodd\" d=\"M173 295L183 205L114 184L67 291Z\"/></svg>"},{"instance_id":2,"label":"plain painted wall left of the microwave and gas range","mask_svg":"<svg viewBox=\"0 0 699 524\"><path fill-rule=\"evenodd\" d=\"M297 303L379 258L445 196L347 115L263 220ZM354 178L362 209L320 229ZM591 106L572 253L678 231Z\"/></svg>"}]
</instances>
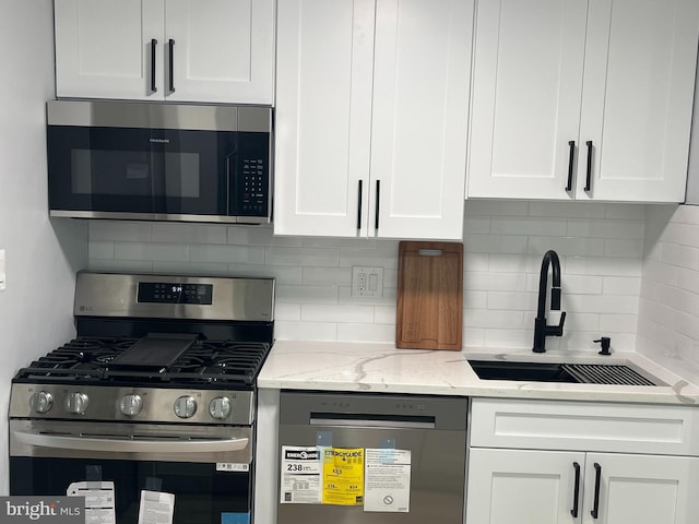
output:
<instances>
[{"instance_id":1,"label":"plain painted wall left of the microwave and gas range","mask_svg":"<svg viewBox=\"0 0 699 524\"><path fill-rule=\"evenodd\" d=\"M47 213L51 0L0 0L0 249L7 258L7 290L0 291L0 495L7 495L10 380L72 335L74 269L85 263L86 231L78 223L52 225Z\"/></svg>"}]
</instances>

